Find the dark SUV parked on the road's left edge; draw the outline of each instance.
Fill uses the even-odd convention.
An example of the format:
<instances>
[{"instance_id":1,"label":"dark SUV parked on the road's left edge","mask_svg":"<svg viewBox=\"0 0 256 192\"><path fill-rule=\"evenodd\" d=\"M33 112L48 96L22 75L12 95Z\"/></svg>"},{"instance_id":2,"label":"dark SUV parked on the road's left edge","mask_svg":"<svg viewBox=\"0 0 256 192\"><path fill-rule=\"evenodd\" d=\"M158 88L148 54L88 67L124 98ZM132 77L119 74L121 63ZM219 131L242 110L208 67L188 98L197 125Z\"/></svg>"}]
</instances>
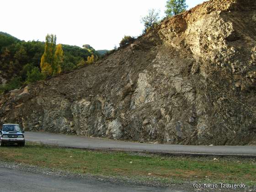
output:
<instances>
[{"instance_id":1,"label":"dark SUV parked on the road's left edge","mask_svg":"<svg viewBox=\"0 0 256 192\"><path fill-rule=\"evenodd\" d=\"M0 129L0 146L9 143L24 147L25 138L23 133L24 131L21 130L18 124L3 124Z\"/></svg>"}]
</instances>

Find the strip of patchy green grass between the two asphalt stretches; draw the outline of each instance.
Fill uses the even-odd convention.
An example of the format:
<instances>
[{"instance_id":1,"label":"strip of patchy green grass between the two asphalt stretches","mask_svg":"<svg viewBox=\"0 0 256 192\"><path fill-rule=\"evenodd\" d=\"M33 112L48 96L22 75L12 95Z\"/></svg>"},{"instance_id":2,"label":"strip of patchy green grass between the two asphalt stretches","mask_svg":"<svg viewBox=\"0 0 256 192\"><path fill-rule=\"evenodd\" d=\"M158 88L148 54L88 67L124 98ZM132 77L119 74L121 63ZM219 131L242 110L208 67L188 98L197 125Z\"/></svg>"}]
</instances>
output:
<instances>
[{"instance_id":1,"label":"strip of patchy green grass between the two asphalt stretches","mask_svg":"<svg viewBox=\"0 0 256 192\"><path fill-rule=\"evenodd\" d=\"M0 159L73 173L120 176L161 182L214 182L256 185L255 161L222 158L163 157L124 152L67 149L27 143L26 147L0 148Z\"/></svg>"}]
</instances>

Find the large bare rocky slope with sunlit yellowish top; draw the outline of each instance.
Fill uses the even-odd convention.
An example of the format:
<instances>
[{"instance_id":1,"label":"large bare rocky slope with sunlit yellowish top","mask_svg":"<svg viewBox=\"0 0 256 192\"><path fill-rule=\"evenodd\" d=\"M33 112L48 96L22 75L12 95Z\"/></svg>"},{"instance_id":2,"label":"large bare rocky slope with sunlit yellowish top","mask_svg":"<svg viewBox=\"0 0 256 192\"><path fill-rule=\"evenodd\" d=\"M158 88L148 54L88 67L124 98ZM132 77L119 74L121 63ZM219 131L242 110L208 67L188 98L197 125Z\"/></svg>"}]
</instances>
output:
<instances>
[{"instance_id":1,"label":"large bare rocky slope with sunlit yellowish top","mask_svg":"<svg viewBox=\"0 0 256 192\"><path fill-rule=\"evenodd\" d=\"M256 1L211 0L107 58L0 96L25 130L256 144Z\"/></svg>"}]
</instances>

